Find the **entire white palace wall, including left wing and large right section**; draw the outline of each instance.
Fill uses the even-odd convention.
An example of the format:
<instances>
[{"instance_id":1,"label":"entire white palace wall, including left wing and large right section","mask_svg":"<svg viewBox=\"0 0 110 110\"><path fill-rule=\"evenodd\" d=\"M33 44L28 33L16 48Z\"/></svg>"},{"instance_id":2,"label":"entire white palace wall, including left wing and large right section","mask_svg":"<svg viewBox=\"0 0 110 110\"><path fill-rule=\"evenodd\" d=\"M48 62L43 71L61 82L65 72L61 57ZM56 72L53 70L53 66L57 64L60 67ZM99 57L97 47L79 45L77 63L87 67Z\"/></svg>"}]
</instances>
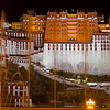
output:
<instances>
[{"instance_id":1,"label":"entire white palace wall, including left wing and large right section","mask_svg":"<svg viewBox=\"0 0 110 110\"><path fill-rule=\"evenodd\" d=\"M28 68L29 43L26 41L3 40L6 53L10 57L16 57L20 66ZM31 53L34 44L31 42ZM1 48L0 48L1 50ZM87 51L86 51L87 50ZM1 51L0 51L1 52ZM43 53L32 55L32 62L40 62L46 68L54 68L54 55L56 52L56 69L75 74L85 73L85 61L87 61L87 73L103 75L110 73L110 36L94 35L90 43L44 43ZM86 52L86 53L85 53ZM86 54L86 57L85 57ZM2 50L2 55L4 51ZM11 55L11 56L10 56ZM21 56L20 56L21 55Z\"/></svg>"}]
</instances>

